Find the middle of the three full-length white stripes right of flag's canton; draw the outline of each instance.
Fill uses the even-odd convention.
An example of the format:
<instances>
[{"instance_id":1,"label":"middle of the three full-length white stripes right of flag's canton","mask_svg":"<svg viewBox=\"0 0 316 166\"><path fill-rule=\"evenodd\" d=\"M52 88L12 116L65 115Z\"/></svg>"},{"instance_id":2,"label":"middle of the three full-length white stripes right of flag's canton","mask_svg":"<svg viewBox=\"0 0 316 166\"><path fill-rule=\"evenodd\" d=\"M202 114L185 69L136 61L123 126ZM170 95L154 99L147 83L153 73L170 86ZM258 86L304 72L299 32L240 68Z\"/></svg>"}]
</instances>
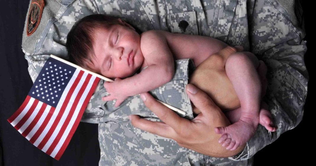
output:
<instances>
[{"instance_id":1,"label":"middle of the three full-length white stripes right of flag's canton","mask_svg":"<svg viewBox=\"0 0 316 166\"><path fill-rule=\"evenodd\" d=\"M55 140L55 138L57 137L61 127L63 126L71 107L73 106L73 103L75 102L75 99L78 95L79 90L81 89L84 81L86 80L86 77L88 76L87 72L84 72L76 89L74 90L74 93L71 95L70 100L68 102L68 105L64 111L64 114L62 115L62 117L60 118L60 121L58 122L58 125L56 126L54 132L52 133L51 138L48 139L48 141L46 142L45 146L43 147L42 151L46 152L48 150L48 148L52 145L53 141Z\"/></svg>"}]
</instances>

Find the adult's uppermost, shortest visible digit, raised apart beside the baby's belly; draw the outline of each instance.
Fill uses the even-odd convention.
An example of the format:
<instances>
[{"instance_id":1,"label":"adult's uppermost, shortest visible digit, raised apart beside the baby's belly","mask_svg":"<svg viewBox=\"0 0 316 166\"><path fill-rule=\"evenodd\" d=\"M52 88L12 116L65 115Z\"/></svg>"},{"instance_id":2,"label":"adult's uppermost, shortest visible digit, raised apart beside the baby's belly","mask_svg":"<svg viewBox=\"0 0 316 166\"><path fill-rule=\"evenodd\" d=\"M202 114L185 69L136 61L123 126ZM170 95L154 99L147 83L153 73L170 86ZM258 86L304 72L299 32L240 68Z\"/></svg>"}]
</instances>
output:
<instances>
[{"instance_id":1,"label":"adult's uppermost, shortest visible digit, raised apart beside the baby's belly","mask_svg":"<svg viewBox=\"0 0 316 166\"><path fill-rule=\"evenodd\" d=\"M193 84L187 84L185 89L194 106L207 118L209 118L210 110L220 109L204 91Z\"/></svg>"}]
</instances>

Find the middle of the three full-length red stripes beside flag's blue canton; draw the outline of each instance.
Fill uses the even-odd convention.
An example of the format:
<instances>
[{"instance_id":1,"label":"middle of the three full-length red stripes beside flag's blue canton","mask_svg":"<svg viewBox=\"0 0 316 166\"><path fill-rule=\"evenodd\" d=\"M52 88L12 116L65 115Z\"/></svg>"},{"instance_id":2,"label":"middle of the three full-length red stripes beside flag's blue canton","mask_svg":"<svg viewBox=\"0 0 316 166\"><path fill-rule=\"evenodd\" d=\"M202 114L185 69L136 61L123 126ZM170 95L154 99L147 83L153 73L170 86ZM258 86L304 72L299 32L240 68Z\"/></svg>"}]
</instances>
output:
<instances>
[{"instance_id":1,"label":"middle of the three full-length red stripes beside flag's blue canton","mask_svg":"<svg viewBox=\"0 0 316 166\"><path fill-rule=\"evenodd\" d=\"M58 135L56 136L55 140L53 141L53 143L51 144L51 146L48 148L48 150L46 151L46 153L48 155L51 155L52 151L55 149L56 145L58 144L60 138L63 136L69 122L70 122L70 119L72 118L72 116L74 115L74 112L75 112L75 109L79 103L79 100L81 98L81 96L83 95L83 92L85 91L85 89L87 88L87 85L89 83L89 80L91 78L92 75L88 74L86 80L84 81L84 83L82 84L82 87L81 89L79 90L78 92L78 95L76 96L76 99L74 101L74 103L72 104L71 108L70 108L70 111L69 111L69 114L67 116L67 118L65 119L65 122L63 124L63 126L60 128L59 132L58 132Z\"/></svg>"}]
</instances>

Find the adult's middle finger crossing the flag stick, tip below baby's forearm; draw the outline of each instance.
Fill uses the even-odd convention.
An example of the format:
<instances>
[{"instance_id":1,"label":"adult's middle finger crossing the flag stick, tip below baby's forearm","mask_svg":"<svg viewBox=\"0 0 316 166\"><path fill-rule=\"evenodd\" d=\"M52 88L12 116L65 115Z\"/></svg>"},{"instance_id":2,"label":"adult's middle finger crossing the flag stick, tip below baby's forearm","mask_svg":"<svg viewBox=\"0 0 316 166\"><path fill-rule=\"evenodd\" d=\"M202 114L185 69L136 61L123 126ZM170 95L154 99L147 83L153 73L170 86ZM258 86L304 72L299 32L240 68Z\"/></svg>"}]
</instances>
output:
<instances>
[{"instance_id":1,"label":"adult's middle finger crossing the flag stick, tip below baby's forearm","mask_svg":"<svg viewBox=\"0 0 316 166\"><path fill-rule=\"evenodd\" d=\"M181 118L171 109L156 101L148 92L142 93L140 96L146 107L156 114L164 123L172 127L176 132L181 132L181 127L185 126L185 123L190 123L189 120Z\"/></svg>"}]
</instances>

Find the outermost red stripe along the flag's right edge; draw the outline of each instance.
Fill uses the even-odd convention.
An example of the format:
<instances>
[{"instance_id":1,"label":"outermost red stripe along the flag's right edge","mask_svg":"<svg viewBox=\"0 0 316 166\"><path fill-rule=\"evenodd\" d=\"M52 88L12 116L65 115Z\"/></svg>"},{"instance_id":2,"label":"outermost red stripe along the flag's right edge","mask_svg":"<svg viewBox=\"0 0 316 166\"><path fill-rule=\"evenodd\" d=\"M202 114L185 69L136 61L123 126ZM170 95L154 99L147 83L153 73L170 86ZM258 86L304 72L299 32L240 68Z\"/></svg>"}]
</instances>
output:
<instances>
[{"instance_id":1,"label":"outermost red stripe along the flag's right edge","mask_svg":"<svg viewBox=\"0 0 316 166\"><path fill-rule=\"evenodd\" d=\"M71 130L70 130L70 132L69 132L69 134L68 134L68 136L67 136L67 138L65 139L64 144L61 146L60 150L58 151L58 153L57 153L56 156L55 156L55 159L56 159L56 160L59 160L60 157L63 155L63 153L64 153L66 147L68 146L68 144L69 144L69 142L70 142L70 139L71 139L72 136L74 135L74 133L75 133L75 131L76 131L78 125L79 125L79 122L80 122L80 120L81 120L81 118L82 118L83 112L84 112L84 110L86 109L86 107L87 107L87 105L88 105L88 102L89 102L89 100L90 100L90 98L91 98L91 96L92 96L92 94L93 94L93 92L94 92L94 90L95 90L95 88L96 88L96 86L97 86L99 80L100 80L100 78L98 78L98 77L95 78L94 83L93 83L93 85L92 85L92 87L91 87L91 89L90 89L90 91L89 91L89 93L88 93L88 95L87 95L85 101L84 101L83 104L82 104L82 108L81 108L81 110L80 110L80 112L79 112L79 114L78 114L78 116L77 116L77 119L76 119L74 125L72 126L72 128L71 128Z\"/></svg>"}]
</instances>

